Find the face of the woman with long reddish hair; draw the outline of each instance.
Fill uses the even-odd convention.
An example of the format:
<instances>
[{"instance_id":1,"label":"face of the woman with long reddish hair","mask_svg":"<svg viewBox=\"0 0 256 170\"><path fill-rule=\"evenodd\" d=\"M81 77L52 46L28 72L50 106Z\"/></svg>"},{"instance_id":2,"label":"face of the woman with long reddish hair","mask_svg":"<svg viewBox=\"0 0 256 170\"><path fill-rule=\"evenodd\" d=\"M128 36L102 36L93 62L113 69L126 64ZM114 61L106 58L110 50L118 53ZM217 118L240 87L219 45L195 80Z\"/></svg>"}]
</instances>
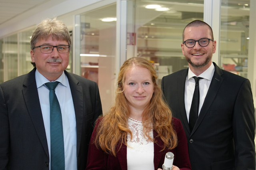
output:
<instances>
[{"instance_id":1,"label":"face of the woman with long reddish hair","mask_svg":"<svg viewBox=\"0 0 256 170\"><path fill-rule=\"evenodd\" d=\"M123 93L131 110L143 111L154 93L150 71L144 67L131 67L125 74Z\"/></svg>"}]
</instances>

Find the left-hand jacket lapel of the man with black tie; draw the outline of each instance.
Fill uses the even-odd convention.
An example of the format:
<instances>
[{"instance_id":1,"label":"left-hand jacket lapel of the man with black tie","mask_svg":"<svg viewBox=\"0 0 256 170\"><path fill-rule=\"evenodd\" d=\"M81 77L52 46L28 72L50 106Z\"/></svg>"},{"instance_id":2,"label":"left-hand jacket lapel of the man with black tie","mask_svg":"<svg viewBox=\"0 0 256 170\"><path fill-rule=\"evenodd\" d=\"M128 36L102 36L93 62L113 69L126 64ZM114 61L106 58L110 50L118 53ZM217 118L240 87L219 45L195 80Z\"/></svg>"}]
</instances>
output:
<instances>
[{"instance_id":1,"label":"left-hand jacket lapel of the man with black tie","mask_svg":"<svg viewBox=\"0 0 256 170\"><path fill-rule=\"evenodd\" d=\"M177 77L177 91L178 91L178 103L179 103L179 109L180 109L180 113L182 116L182 120L186 129L188 130L188 132L190 132L190 128L188 125L188 118L187 118L187 114L186 114L186 109L185 109L185 103L184 103L184 93L185 93L185 82L186 82L186 77L188 75L188 69L184 69L184 71L181 73L181 75L179 77Z\"/></svg>"}]
</instances>

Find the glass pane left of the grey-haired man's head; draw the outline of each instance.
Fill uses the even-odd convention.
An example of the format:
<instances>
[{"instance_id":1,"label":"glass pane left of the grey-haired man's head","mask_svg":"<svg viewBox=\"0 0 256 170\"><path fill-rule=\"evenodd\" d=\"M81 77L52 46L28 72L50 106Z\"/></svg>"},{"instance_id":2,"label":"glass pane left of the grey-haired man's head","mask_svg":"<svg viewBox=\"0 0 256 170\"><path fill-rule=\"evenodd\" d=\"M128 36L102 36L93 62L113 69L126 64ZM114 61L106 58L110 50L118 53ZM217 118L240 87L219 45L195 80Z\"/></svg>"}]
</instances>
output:
<instances>
[{"instance_id":1,"label":"glass pane left of the grey-haired man's head","mask_svg":"<svg viewBox=\"0 0 256 170\"><path fill-rule=\"evenodd\" d=\"M0 83L32 70L30 40L33 30L0 40Z\"/></svg>"}]
</instances>

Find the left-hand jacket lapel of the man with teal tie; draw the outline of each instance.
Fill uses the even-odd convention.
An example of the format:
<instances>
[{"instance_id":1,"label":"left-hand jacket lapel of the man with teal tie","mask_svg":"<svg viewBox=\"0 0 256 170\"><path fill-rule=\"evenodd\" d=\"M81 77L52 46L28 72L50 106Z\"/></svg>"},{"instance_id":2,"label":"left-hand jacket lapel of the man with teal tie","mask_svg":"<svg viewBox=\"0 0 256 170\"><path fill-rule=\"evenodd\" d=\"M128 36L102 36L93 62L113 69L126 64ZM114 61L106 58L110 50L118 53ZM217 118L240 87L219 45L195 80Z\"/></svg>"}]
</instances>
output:
<instances>
[{"instance_id":1,"label":"left-hand jacket lapel of the man with teal tie","mask_svg":"<svg viewBox=\"0 0 256 170\"><path fill-rule=\"evenodd\" d=\"M42 110L36 87L35 71L36 68L34 68L32 71L30 71L30 73L27 74L27 77L23 83L24 87L22 89L22 93L24 101L26 103L26 107L28 109L28 113L38 134L38 138L40 139L44 151L46 152L49 158L47 138L44 128L44 120L42 116Z\"/></svg>"}]
</instances>

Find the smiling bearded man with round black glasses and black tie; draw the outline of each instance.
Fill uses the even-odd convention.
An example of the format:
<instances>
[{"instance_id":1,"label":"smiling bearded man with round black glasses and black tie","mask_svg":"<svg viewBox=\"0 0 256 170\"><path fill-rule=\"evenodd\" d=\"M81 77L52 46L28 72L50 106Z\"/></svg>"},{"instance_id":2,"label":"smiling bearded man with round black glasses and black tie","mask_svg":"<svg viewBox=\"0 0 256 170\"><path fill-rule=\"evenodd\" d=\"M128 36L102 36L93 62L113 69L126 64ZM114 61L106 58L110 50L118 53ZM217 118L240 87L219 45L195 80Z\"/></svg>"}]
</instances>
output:
<instances>
[{"instance_id":1,"label":"smiling bearded man with round black glasses and black tie","mask_svg":"<svg viewBox=\"0 0 256 170\"><path fill-rule=\"evenodd\" d=\"M182 122L192 170L255 170L255 118L250 81L220 69L212 28L195 20L183 31L183 69L162 78L162 91Z\"/></svg>"}]
</instances>

